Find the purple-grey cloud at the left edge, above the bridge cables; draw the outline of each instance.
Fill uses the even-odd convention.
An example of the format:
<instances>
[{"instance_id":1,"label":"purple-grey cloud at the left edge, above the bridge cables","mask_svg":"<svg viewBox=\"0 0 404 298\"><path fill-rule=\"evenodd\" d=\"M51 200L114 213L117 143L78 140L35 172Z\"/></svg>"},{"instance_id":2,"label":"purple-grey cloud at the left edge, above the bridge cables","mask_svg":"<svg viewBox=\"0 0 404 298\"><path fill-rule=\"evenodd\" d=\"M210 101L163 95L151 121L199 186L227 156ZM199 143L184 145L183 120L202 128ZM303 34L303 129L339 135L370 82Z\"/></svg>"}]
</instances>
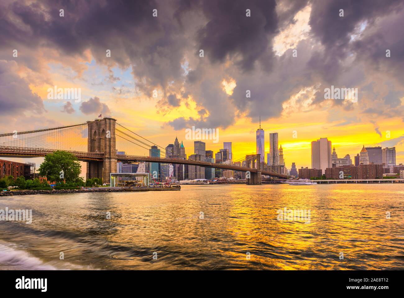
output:
<instances>
[{"instance_id":1,"label":"purple-grey cloud at the left edge, above the bridge cables","mask_svg":"<svg viewBox=\"0 0 404 298\"><path fill-rule=\"evenodd\" d=\"M0 115L17 115L24 111L45 111L43 102L29 89L29 82L17 74L17 63L0 60Z\"/></svg>"}]
</instances>

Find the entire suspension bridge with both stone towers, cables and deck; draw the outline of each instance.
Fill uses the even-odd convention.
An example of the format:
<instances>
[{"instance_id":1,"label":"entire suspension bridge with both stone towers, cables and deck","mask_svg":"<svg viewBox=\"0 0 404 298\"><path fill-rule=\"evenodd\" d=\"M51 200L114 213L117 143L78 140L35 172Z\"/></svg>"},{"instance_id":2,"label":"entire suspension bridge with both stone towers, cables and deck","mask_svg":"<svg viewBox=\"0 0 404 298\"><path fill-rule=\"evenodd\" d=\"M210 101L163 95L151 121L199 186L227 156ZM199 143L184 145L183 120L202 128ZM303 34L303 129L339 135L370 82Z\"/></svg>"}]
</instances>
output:
<instances>
[{"instance_id":1,"label":"entire suspension bridge with both stone towers, cables and deck","mask_svg":"<svg viewBox=\"0 0 404 298\"><path fill-rule=\"evenodd\" d=\"M163 149L162 157L149 156L151 146ZM154 147L155 148L155 147ZM261 176L287 178L276 172L261 170L259 154L246 155L246 166L216 164L165 156L165 148L122 126L116 119L104 117L70 126L8 132L0 134L0 157L33 158L44 157L57 150L72 153L78 160L86 162L86 178L101 178L109 183L109 174L116 172L117 162L156 162L185 164L208 168L219 168L248 172L246 184L261 184ZM124 154L119 154L123 153Z\"/></svg>"}]
</instances>

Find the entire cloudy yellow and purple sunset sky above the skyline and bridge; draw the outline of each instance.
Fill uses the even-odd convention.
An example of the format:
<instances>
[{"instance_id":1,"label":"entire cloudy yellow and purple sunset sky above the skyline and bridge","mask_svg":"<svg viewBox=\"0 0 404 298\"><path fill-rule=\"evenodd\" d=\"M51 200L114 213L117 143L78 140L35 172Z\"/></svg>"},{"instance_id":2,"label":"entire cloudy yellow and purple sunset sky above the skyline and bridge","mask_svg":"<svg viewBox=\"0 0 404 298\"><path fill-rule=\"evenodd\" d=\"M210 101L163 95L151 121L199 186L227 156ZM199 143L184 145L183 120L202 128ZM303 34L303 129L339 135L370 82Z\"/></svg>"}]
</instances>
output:
<instances>
[{"instance_id":1,"label":"entire cloudy yellow and purple sunset sky above the skyline and bridge","mask_svg":"<svg viewBox=\"0 0 404 298\"><path fill-rule=\"evenodd\" d=\"M187 155L186 128L219 128L206 150L232 142L237 160L255 153L261 116L265 162L270 132L287 168L311 167L320 137L340 158L381 145L404 162L401 0L0 0L0 28L2 132L102 114L163 147L177 136ZM48 99L55 85L81 88L81 102ZM358 101L324 99L331 85Z\"/></svg>"}]
</instances>

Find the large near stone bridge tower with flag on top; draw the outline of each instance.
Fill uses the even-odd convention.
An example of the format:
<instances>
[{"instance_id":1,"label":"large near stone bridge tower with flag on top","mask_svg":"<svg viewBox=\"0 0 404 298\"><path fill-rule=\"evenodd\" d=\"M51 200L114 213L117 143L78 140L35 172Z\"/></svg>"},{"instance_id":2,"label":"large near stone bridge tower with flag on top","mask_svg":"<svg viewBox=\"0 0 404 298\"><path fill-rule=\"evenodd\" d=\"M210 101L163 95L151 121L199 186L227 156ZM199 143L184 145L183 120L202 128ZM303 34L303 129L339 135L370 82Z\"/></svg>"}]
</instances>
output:
<instances>
[{"instance_id":1,"label":"large near stone bridge tower with flag on top","mask_svg":"<svg viewBox=\"0 0 404 298\"><path fill-rule=\"evenodd\" d=\"M109 173L116 172L116 119L104 117L88 124L88 152L104 153L102 162L87 162L87 179L100 178L103 183L109 183Z\"/></svg>"}]
</instances>

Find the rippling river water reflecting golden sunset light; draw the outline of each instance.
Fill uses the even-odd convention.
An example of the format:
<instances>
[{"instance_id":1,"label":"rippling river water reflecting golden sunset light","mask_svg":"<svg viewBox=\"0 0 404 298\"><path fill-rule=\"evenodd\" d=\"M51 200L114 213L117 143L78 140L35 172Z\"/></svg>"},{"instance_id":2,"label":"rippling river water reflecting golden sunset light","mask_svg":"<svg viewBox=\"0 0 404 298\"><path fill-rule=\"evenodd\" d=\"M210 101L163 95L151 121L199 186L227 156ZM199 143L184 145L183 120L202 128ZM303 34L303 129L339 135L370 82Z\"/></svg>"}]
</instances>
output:
<instances>
[{"instance_id":1,"label":"rippling river water reflecting golden sunset light","mask_svg":"<svg viewBox=\"0 0 404 298\"><path fill-rule=\"evenodd\" d=\"M32 209L32 224L0 221L0 270L404 269L403 184L184 185L6 207ZM285 207L306 217L278 220Z\"/></svg>"}]
</instances>

